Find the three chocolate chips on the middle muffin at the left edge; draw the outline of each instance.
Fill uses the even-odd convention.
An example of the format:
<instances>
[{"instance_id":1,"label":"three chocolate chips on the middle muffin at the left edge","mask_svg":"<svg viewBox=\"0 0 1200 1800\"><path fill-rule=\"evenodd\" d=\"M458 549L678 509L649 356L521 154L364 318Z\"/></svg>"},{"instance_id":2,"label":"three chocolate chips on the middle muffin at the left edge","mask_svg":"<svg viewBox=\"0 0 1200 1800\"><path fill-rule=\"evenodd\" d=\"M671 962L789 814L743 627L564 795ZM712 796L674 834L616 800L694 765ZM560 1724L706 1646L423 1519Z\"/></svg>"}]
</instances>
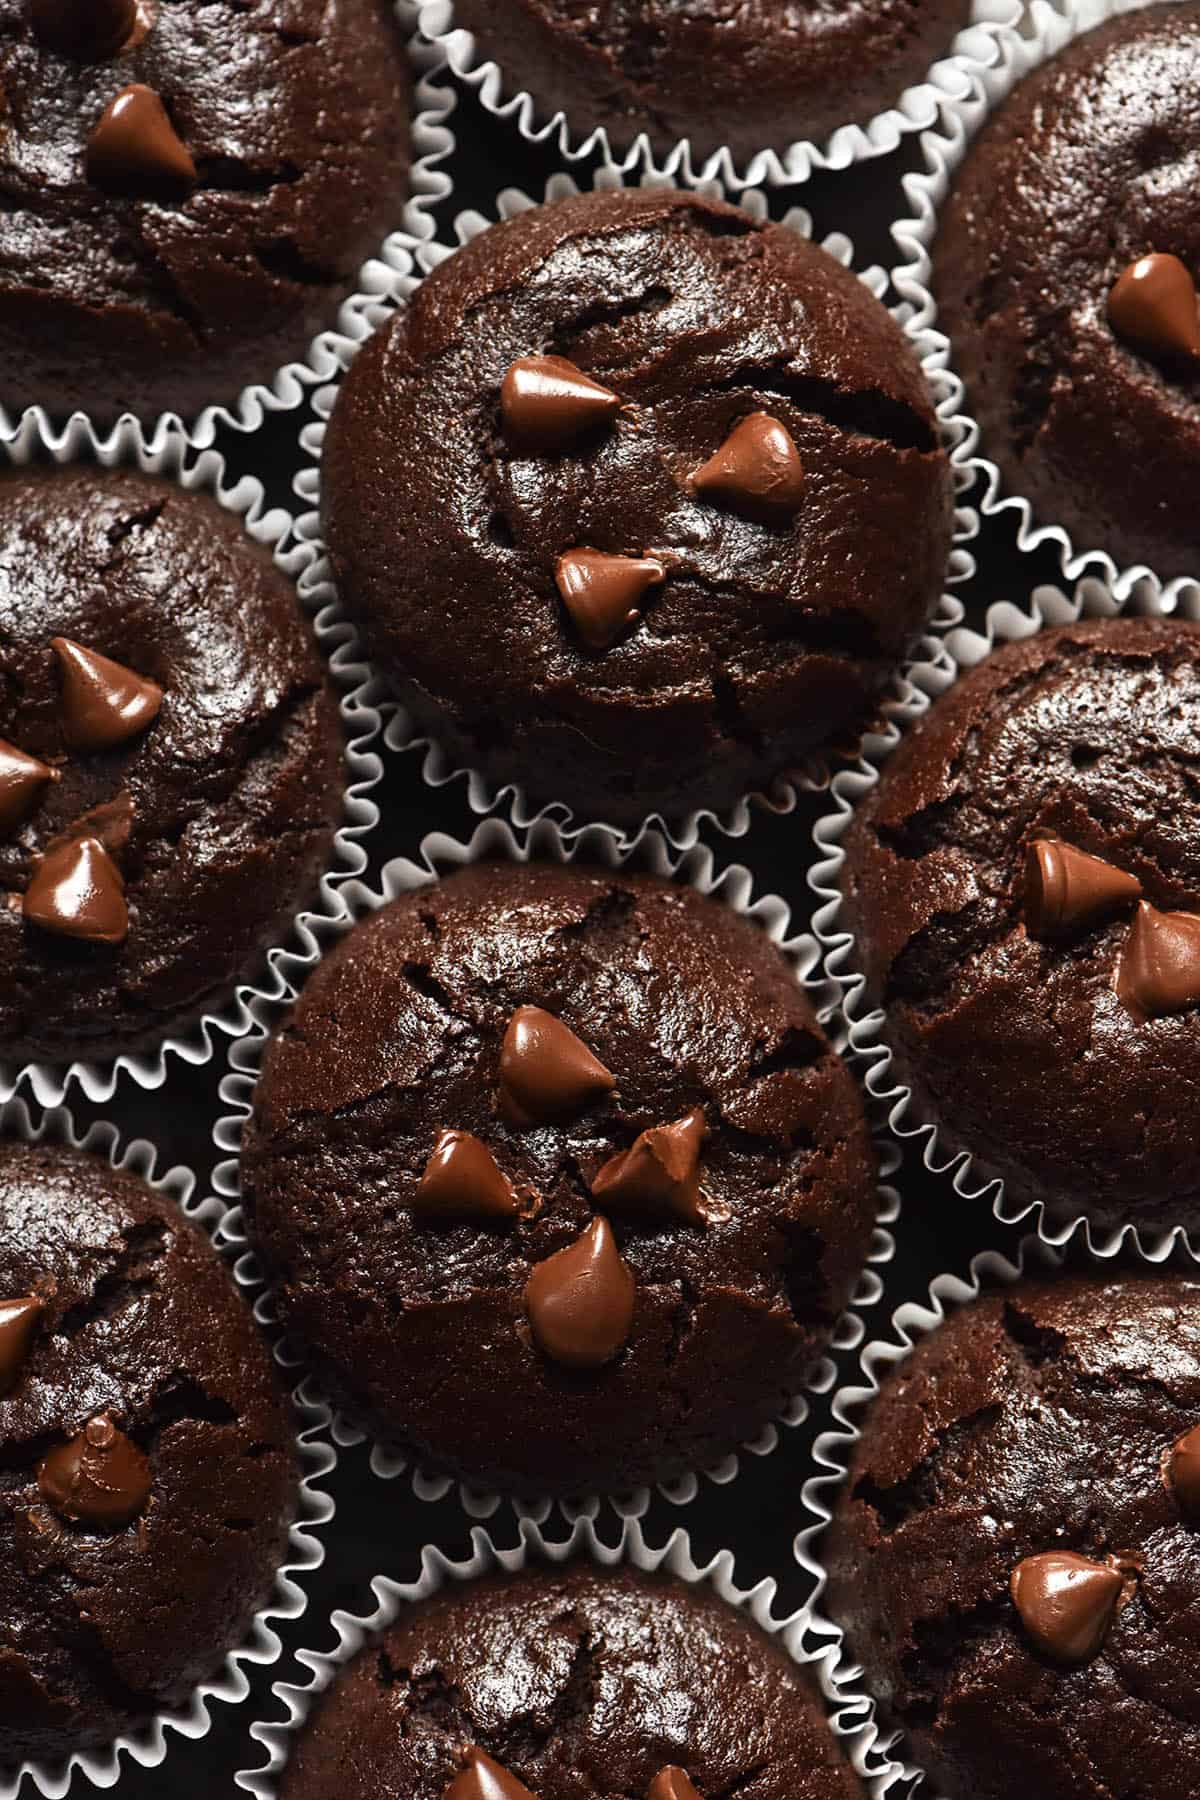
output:
<instances>
[{"instance_id":1,"label":"three chocolate chips on the middle muffin at the left edge","mask_svg":"<svg viewBox=\"0 0 1200 1800\"><path fill-rule=\"evenodd\" d=\"M110 751L146 731L162 707L162 688L122 662L52 637L63 677L63 722L76 751ZM29 817L59 770L0 738L0 830ZM124 943L130 911L112 850L124 846L133 823L128 794L77 819L50 839L29 878L20 907L43 931L88 943Z\"/></svg>"}]
</instances>

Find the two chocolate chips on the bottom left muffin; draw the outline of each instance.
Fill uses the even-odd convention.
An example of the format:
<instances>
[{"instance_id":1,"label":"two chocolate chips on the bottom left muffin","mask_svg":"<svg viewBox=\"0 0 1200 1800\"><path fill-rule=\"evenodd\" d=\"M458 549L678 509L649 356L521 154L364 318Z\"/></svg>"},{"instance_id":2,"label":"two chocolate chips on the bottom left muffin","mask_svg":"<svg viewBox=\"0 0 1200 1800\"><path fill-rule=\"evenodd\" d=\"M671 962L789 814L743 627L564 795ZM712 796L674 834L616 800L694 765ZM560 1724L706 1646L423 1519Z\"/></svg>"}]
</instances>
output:
<instances>
[{"instance_id":1,"label":"two chocolate chips on the bottom left muffin","mask_svg":"<svg viewBox=\"0 0 1200 1800\"><path fill-rule=\"evenodd\" d=\"M0 1399L16 1388L43 1312L38 1294L0 1300ZM77 1436L41 1458L38 1489L61 1519L119 1532L149 1499L149 1462L112 1413L97 1413Z\"/></svg>"}]
</instances>

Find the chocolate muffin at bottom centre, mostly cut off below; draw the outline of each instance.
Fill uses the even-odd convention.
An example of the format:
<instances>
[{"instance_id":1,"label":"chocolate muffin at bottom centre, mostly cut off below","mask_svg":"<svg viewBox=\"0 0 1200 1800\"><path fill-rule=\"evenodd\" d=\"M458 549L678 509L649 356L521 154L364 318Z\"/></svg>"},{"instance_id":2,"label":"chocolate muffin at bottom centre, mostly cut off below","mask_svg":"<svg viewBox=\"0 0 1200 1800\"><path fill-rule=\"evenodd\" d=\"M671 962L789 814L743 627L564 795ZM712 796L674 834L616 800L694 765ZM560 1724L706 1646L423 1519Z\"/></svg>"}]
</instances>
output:
<instances>
[{"instance_id":1,"label":"chocolate muffin at bottom centre, mostly cut off below","mask_svg":"<svg viewBox=\"0 0 1200 1800\"><path fill-rule=\"evenodd\" d=\"M279 1795L531 1791L862 1800L813 1681L745 1613L707 1588L590 1562L450 1586L407 1609L317 1703Z\"/></svg>"}]
</instances>

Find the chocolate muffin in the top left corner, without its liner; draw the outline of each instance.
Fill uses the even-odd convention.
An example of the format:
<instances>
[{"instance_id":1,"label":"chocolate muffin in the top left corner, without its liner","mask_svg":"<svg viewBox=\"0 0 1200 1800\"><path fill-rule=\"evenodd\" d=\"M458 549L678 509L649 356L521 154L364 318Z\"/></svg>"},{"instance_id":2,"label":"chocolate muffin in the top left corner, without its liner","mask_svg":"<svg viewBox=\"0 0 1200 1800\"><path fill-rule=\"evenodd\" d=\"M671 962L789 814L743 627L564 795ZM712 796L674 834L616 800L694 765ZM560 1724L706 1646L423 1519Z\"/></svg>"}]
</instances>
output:
<instances>
[{"instance_id":1,"label":"chocolate muffin in the top left corner, without its liner","mask_svg":"<svg viewBox=\"0 0 1200 1800\"><path fill-rule=\"evenodd\" d=\"M306 356L401 223L385 0L0 0L0 401L191 416Z\"/></svg>"}]
</instances>

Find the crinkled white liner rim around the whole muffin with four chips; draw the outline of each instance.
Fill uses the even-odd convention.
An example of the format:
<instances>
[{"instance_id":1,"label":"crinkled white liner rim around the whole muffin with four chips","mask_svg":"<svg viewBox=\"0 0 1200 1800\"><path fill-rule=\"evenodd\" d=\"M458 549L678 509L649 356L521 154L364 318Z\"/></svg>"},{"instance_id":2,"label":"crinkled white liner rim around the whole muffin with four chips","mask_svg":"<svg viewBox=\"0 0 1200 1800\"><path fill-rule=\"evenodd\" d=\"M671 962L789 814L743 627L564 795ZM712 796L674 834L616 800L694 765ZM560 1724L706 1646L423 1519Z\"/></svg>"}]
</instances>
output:
<instances>
[{"instance_id":1,"label":"crinkled white liner rim around the whole muffin with four chips","mask_svg":"<svg viewBox=\"0 0 1200 1800\"><path fill-rule=\"evenodd\" d=\"M813 1004L822 1008L820 1017L828 1017L829 1006L822 1006L822 1003L828 1003L829 988L820 979L813 979L813 970L820 961L815 940L808 932L792 936L792 914L786 902L783 902L777 895L752 898L754 880L750 871L739 864L716 869L712 851L705 846L680 853L667 844L662 833L649 830L642 830L637 842L628 844L606 826L592 826L572 839L565 839L554 823L547 819L540 821L522 839L518 839L513 828L502 819L486 819L475 828L468 842L448 837L444 832L432 832L421 841L417 862L412 862L407 857L394 857L389 864L385 864L380 873L378 889L367 887L362 882L349 882L342 889L340 918L315 920L311 929L306 932L306 954L291 956L284 963L282 972L288 983L286 995L272 1003L264 999L255 1001L252 1004L252 1030L230 1048L228 1060L234 1073L221 1080L221 1100L230 1111L218 1120L212 1132L218 1150L230 1157L230 1161L218 1163L212 1175L216 1192L234 1208L225 1228L230 1240L236 1240L243 1247L246 1247L248 1242L237 1204L241 1199L237 1150L241 1145L243 1125L250 1116L254 1084L261 1069L263 1051L273 1024L286 1012L291 997L302 986L304 977L311 972L315 963L320 961L322 952L344 938L360 918L365 918L378 907L387 905L390 900L398 898L398 895L425 887L441 875L452 873L457 868L486 857L513 862L542 859L547 862L590 860L606 868L635 866L646 868L660 877L687 882L700 893L712 895L730 905L743 918L756 920L795 967L797 981L810 994ZM864 1265L858 1283L851 1294L849 1307L835 1328L829 1343L831 1352L853 1350L862 1343L864 1325L858 1314L860 1310L878 1303L883 1285L876 1269L891 1262L896 1247L891 1231L885 1228L894 1224L900 1215L900 1195L892 1186L889 1186L887 1177L898 1168L900 1156L894 1152L894 1147L885 1141L876 1141L876 1156L880 1159L880 1204L876 1211L874 1237L867 1255L867 1264ZM250 1278L261 1280L257 1260L248 1247L237 1267L241 1269L243 1265ZM279 1328L277 1305L270 1289L266 1289L261 1296L255 1310L264 1325ZM304 1370L306 1366L302 1348L288 1343L286 1339L281 1343L281 1361L291 1370ZM835 1364L829 1355L822 1355L808 1382L804 1382L802 1390L793 1395L779 1418L759 1431L752 1442L743 1444L741 1451L752 1456L770 1454L779 1442L779 1429L786 1426L799 1426L808 1417L808 1395L828 1393L835 1379ZM300 1381L297 1391L318 1400L320 1404L333 1404L311 1375ZM360 1429L335 1408L333 1440L338 1447L345 1449L369 1442L369 1433ZM646 1510L651 1498L649 1487L639 1487L630 1494L587 1494L578 1501L551 1499L545 1496L540 1499L518 1499L515 1496L502 1496L468 1487L466 1483L455 1481L452 1476L432 1474L421 1469L419 1463L410 1463L410 1458L403 1451L380 1440L371 1440L371 1469L385 1481L396 1480L407 1471L412 1492L419 1499L426 1501L441 1499L444 1494L457 1489L459 1501L471 1517L489 1517L506 1499L518 1517L536 1521L545 1521L554 1507L560 1507L563 1516L570 1519L578 1516L596 1517L604 1501L608 1501L617 1514L635 1517ZM734 1480L738 1469L739 1453L730 1453L721 1462L703 1469L702 1472L709 1481L723 1487ZM698 1474L689 1472L680 1476L676 1481L662 1483L655 1489L655 1492L662 1494L673 1505L684 1507L694 1499L698 1492Z\"/></svg>"}]
</instances>

